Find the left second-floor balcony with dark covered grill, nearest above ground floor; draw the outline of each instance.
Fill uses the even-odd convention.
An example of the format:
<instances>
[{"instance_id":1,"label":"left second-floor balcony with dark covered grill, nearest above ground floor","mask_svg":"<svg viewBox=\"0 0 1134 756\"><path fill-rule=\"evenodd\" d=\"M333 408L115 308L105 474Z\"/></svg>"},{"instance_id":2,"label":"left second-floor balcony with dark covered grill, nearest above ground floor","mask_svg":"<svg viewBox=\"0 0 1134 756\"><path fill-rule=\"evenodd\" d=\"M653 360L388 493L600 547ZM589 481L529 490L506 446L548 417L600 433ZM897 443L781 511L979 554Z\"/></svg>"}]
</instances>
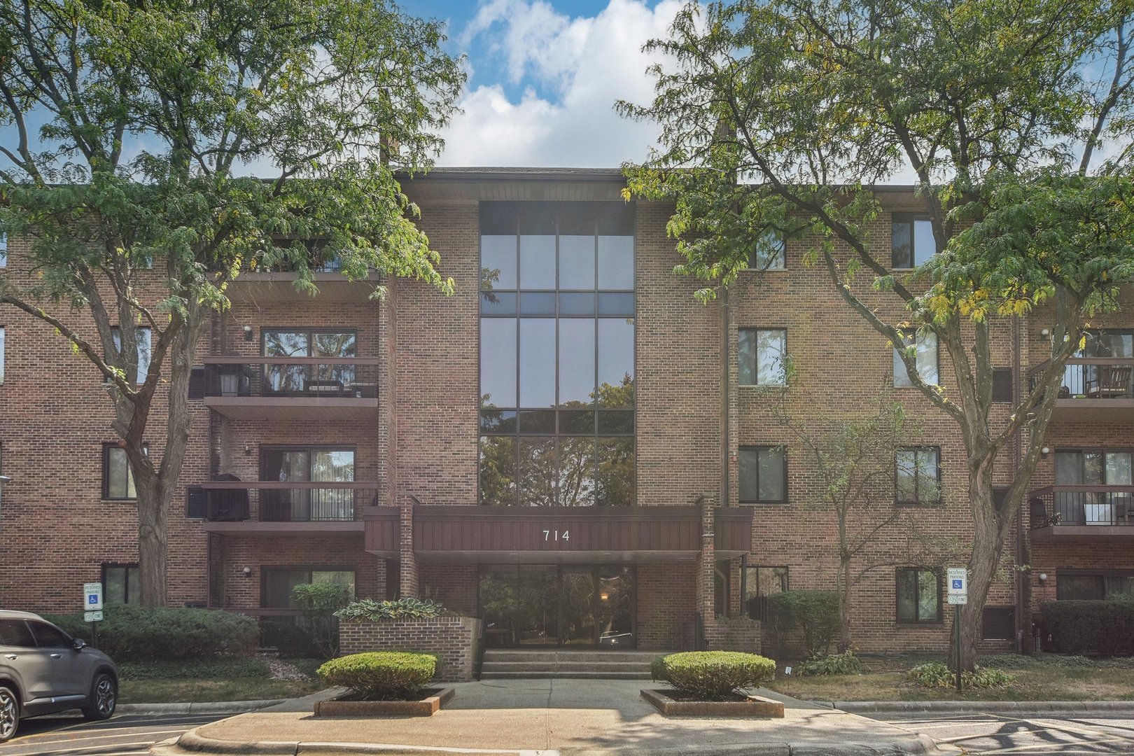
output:
<instances>
[{"instance_id":1,"label":"left second-floor balcony with dark covered grill, nearest above ground floor","mask_svg":"<svg viewBox=\"0 0 1134 756\"><path fill-rule=\"evenodd\" d=\"M189 492L191 517L220 534L358 533L378 483L213 481Z\"/></svg>"}]
</instances>

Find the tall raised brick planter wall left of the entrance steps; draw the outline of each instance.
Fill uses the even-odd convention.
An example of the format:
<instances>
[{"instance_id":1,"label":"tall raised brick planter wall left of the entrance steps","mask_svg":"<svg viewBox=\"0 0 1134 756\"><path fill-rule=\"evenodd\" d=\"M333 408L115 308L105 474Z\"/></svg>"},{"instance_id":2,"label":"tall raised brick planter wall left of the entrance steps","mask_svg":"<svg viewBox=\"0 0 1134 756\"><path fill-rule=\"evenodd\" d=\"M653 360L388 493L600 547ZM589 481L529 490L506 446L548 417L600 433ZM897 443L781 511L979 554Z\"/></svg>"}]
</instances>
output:
<instances>
[{"instance_id":1,"label":"tall raised brick planter wall left of the entrance steps","mask_svg":"<svg viewBox=\"0 0 1134 756\"><path fill-rule=\"evenodd\" d=\"M481 621L475 617L340 622L339 653L424 651L441 657L433 678L440 682L473 679Z\"/></svg>"}]
</instances>

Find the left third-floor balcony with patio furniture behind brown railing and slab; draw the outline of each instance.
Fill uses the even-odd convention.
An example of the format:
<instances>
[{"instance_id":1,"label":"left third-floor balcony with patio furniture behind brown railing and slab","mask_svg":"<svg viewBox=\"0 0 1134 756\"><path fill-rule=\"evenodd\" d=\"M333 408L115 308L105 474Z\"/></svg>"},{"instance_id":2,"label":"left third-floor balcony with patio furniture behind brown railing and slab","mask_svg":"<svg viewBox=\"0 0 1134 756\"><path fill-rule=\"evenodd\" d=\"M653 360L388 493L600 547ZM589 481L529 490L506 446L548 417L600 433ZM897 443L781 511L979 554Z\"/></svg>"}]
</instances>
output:
<instances>
[{"instance_id":1,"label":"left third-floor balcony with patio furniture behind brown railing and slab","mask_svg":"<svg viewBox=\"0 0 1134 756\"><path fill-rule=\"evenodd\" d=\"M376 358L205 357L204 401L226 417L378 418Z\"/></svg>"}]
</instances>

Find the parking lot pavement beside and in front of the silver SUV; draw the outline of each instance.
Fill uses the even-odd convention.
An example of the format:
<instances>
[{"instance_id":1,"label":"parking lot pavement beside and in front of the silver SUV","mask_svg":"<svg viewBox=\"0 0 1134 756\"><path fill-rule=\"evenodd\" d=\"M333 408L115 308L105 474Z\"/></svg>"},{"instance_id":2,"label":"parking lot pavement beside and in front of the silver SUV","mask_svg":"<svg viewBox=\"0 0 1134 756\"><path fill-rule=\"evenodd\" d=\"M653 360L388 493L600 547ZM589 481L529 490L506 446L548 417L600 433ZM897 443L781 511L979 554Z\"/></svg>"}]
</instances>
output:
<instances>
[{"instance_id":1,"label":"parking lot pavement beside and in front of the silver SUV","mask_svg":"<svg viewBox=\"0 0 1134 756\"><path fill-rule=\"evenodd\" d=\"M225 716L227 714L124 714L104 722L87 722L81 716L40 716L20 722L16 737L0 745L0 756L145 754L159 740Z\"/></svg>"}]
</instances>

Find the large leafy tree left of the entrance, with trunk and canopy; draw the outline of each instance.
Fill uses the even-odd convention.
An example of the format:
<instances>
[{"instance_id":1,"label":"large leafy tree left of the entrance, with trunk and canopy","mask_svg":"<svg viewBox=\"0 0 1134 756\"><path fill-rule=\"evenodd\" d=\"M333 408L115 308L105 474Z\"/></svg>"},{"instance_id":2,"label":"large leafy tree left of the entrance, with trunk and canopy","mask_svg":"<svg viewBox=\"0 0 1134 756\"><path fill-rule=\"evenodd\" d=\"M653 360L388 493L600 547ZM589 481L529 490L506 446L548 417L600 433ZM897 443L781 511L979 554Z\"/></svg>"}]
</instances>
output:
<instances>
[{"instance_id":1,"label":"large leafy tree left of the entrance, with trunk and canopy","mask_svg":"<svg viewBox=\"0 0 1134 756\"><path fill-rule=\"evenodd\" d=\"M349 279L375 269L451 290L393 175L429 168L454 112L464 74L442 40L388 0L0 1L0 127L14 135L0 228L31 243L0 275L0 304L54 326L109 382L142 603L167 600L189 371L230 282L290 269L314 294L313 267L335 257ZM146 456L167 388L164 443Z\"/></svg>"}]
</instances>

